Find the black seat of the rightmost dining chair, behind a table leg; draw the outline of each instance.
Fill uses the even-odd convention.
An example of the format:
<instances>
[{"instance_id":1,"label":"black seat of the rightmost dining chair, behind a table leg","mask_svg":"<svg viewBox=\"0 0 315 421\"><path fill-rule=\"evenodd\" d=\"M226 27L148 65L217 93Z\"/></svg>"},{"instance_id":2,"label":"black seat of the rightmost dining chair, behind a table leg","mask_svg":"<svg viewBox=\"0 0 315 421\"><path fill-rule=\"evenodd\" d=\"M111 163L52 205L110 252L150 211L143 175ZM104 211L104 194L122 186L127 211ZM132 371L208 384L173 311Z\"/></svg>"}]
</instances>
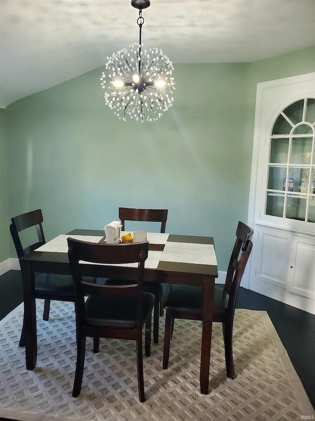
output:
<instances>
[{"instance_id":1,"label":"black seat of the rightmost dining chair, behind a table leg","mask_svg":"<svg viewBox=\"0 0 315 421\"><path fill-rule=\"evenodd\" d=\"M224 313L227 308L228 294L223 288L215 286L214 313ZM203 288L192 285L173 285L167 288L163 307L177 312L203 314Z\"/></svg>"}]
</instances>

